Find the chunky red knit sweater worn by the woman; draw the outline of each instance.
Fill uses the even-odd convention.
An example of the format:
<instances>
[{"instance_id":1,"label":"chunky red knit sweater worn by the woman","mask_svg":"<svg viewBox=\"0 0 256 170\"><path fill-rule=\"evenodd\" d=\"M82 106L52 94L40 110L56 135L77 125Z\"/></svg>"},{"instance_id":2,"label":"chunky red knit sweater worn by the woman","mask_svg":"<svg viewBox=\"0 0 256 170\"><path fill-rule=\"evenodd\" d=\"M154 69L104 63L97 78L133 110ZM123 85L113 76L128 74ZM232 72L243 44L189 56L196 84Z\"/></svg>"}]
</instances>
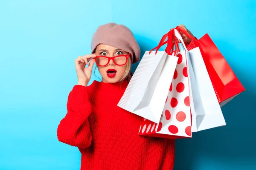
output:
<instances>
[{"instance_id":1,"label":"chunky red knit sweater worn by the woman","mask_svg":"<svg viewBox=\"0 0 256 170\"><path fill-rule=\"evenodd\" d=\"M75 85L57 129L60 142L79 148L81 170L172 170L175 141L139 136L143 117L119 108L128 82Z\"/></svg>"}]
</instances>

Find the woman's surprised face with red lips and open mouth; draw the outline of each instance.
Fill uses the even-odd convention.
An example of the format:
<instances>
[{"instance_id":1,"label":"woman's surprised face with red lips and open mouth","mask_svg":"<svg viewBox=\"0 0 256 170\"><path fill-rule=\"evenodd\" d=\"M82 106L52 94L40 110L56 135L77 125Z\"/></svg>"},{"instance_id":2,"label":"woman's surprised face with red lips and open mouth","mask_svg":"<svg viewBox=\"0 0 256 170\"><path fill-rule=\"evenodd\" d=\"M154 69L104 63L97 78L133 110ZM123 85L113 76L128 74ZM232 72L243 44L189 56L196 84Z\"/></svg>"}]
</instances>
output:
<instances>
[{"instance_id":1,"label":"woman's surprised face with red lips and open mouth","mask_svg":"<svg viewBox=\"0 0 256 170\"><path fill-rule=\"evenodd\" d=\"M99 44L95 50L96 56L114 57L119 55L128 55L128 52L112 47L106 44ZM125 73L127 63L125 65L116 65L111 59L106 66L98 66L99 73L102 76L102 82L116 83Z\"/></svg>"}]
</instances>

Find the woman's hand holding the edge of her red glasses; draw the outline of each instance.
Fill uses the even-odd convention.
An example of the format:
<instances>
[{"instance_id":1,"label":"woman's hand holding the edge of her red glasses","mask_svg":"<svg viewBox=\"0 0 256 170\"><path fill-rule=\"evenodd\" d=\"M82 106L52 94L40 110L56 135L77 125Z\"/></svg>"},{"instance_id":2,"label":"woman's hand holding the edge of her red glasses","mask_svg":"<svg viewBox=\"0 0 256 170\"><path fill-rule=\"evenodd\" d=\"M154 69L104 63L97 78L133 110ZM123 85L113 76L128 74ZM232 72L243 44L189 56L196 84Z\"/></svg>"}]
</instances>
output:
<instances>
[{"instance_id":1,"label":"woman's hand holding the edge of her red glasses","mask_svg":"<svg viewBox=\"0 0 256 170\"><path fill-rule=\"evenodd\" d=\"M95 62L96 54L88 54L84 56L79 56L75 59L75 66L76 66L76 74L78 79L78 85L84 85L87 86L91 76L92 76L92 70L93 70L93 64ZM90 59L92 59L90 61ZM88 64L90 61L88 67L86 68L85 65Z\"/></svg>"}]
</instances>

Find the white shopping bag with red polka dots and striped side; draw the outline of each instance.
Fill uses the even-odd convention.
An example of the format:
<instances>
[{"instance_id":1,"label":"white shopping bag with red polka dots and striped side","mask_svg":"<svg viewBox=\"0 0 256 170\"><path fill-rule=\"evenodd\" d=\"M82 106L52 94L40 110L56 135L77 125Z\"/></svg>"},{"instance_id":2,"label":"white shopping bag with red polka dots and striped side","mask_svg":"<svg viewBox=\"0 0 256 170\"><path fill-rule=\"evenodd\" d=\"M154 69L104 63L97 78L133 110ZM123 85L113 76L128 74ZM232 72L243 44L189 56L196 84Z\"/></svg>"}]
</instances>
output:
<instances>
[{"instance_id":1,"label":"white shopping bag with red polka dots and striped side","mask_svg":"<svg viewBox=\"0 0 256 170\"><path fill-rule=\"evenodd\" d=\"M171 30L170 32L174 32ZM172 35L172 34L169 34ZM169 36L168 40L172 40ZM176 40L176 39L175 39ZM172 46L172 45L171 45ZM189 77L187 51L176 53L177 66L159 123L148 119L140 125L139 135L168 139L191 138L191 113L189 104Z\"/></svg>"}]
</instances>

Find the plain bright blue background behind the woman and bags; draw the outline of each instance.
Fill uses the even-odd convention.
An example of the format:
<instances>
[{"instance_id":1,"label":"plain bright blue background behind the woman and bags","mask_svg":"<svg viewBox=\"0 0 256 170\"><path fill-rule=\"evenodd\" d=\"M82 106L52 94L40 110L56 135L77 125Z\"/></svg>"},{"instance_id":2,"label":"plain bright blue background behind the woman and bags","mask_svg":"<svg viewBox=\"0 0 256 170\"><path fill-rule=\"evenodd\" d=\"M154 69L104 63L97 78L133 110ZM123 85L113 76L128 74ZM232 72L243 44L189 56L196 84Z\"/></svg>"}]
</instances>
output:
<instances>
[{"instance_id":1,"label":"plain bright blue background behind the woman and bags","mask_svg":"<svg viewBox=\"0 0 256 170\"><path fill-rule=\"evenodd\" d=\"M79 150L56 130L77 83L74 59L108 22L128 26L142 54L179 24L212 37L246 91L222 109L225 127L176 141L175 170L255 170L255 0L1 1L0 170L79 170Z\"/></svg>"}]
</instances>

